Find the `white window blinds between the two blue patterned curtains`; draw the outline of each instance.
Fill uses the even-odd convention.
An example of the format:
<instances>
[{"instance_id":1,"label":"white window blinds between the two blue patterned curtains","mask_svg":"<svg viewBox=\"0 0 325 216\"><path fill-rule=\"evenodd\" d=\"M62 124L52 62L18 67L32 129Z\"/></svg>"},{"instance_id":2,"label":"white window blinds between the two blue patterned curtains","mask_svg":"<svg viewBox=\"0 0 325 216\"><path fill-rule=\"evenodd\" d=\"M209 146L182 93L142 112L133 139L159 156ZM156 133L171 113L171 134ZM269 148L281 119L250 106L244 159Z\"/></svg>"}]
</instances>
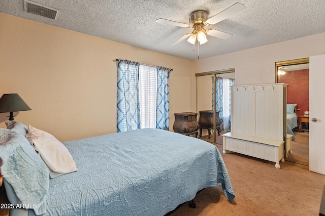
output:
<instances>
[{"instance_id":1,"label":"white window blinds between the two blue patterned curtains","mask_svg":"<svg viewBox=\"0 0 325 216\"><path fill-rule=\"evenodd\" d=\"M140 64L139 69L140 128L156 127L157 68Z\"/></svg>"}]
</instances>

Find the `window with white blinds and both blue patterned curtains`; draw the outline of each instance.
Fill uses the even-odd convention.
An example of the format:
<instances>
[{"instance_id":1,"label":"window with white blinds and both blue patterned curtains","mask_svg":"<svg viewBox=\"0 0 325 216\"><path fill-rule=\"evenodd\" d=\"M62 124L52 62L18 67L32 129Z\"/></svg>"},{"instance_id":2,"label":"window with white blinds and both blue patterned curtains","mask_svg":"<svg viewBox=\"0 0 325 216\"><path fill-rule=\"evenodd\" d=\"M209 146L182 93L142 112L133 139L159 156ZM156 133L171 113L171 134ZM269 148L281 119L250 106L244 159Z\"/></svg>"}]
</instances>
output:
<instances>
[{"instance_id":1,"label":"window with white blinds and both blue patterned curtains","mask_svg":"<svg viewBox=\"0 0 325 216\"><path fill-rule=\"evenodd\" d=\"M140 68L141 67L141 68ZM117 62L117 132L152 127L169 129L171 68ZM141 107L141 108L140 108Z\"/></svg>"}]
</instances>

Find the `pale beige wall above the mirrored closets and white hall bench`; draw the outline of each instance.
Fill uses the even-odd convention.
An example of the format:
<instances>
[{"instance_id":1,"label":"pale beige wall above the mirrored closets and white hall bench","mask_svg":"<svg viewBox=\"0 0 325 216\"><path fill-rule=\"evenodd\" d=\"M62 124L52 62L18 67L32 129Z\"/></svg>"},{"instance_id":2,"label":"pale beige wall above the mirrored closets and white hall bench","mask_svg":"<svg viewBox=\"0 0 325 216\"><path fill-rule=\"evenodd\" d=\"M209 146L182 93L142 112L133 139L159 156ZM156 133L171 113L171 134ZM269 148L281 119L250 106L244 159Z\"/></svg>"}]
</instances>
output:
<instances>
[{"instance_id":1,"label":"pale beige wall above the mirrored closets and white hall bench","mask_svg":"<svg viewBox=\"0 0 325 216\"><path fill-rule=\"evenodd\" d=\"M325 54L325 32L197 60L193 73L235 68L235 84L275 82L275 62Z\"/></svg>"}]
</instances>

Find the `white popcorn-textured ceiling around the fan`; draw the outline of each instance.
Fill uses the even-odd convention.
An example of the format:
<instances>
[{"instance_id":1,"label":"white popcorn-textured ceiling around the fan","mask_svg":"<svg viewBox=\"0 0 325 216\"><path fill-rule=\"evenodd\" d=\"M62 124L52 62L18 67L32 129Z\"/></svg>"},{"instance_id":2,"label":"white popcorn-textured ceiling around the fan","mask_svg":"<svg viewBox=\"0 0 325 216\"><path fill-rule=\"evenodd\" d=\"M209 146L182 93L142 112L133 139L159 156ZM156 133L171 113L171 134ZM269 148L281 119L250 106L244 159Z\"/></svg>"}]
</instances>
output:
<instances>
[{"instance_id":1,"label":"white popcorn-textured ceiling around the fan","mask_svg":"<svg viewBox=\"0 0 325 216\"><path fill-rule=\"evenodd\" d=\"M198 59L197 46L193 52L186 40L170 45L191 30L156 19L188 24L195 10L206 10L210 18L237 2L244 4L244 11L212 26L233 36L222 40L208 35L200 59L325 32L325 0L33 1L60 10L58 20L24 12L23 0L0 0L0 12L189 60Z\"/></svg>"}]
</instances>

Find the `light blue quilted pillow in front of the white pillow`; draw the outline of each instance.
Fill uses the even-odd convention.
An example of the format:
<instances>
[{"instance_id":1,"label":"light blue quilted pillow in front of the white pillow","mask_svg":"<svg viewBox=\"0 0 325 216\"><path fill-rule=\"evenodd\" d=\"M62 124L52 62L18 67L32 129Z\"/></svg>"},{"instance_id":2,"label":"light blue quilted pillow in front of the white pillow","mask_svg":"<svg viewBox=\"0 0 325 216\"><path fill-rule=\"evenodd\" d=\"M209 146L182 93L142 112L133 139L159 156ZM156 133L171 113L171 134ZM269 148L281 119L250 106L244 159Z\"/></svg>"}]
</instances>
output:
<instances>
[{"instance_id":1,"label":"light blue quilted pillow in front of the white pillow","mask_svg":"<svg viewBox=\"0 0 325 216\"><path fill-rule=\"evenodd\" d=\"M28 140L16 130L0 128L0 158L5 187L10 184L8 189L13 189L20 203L31 207L35 203L35 214L45 213L49 171ZM18 204L17 199L9 201Z\"/></svg>"}]
</instances>

